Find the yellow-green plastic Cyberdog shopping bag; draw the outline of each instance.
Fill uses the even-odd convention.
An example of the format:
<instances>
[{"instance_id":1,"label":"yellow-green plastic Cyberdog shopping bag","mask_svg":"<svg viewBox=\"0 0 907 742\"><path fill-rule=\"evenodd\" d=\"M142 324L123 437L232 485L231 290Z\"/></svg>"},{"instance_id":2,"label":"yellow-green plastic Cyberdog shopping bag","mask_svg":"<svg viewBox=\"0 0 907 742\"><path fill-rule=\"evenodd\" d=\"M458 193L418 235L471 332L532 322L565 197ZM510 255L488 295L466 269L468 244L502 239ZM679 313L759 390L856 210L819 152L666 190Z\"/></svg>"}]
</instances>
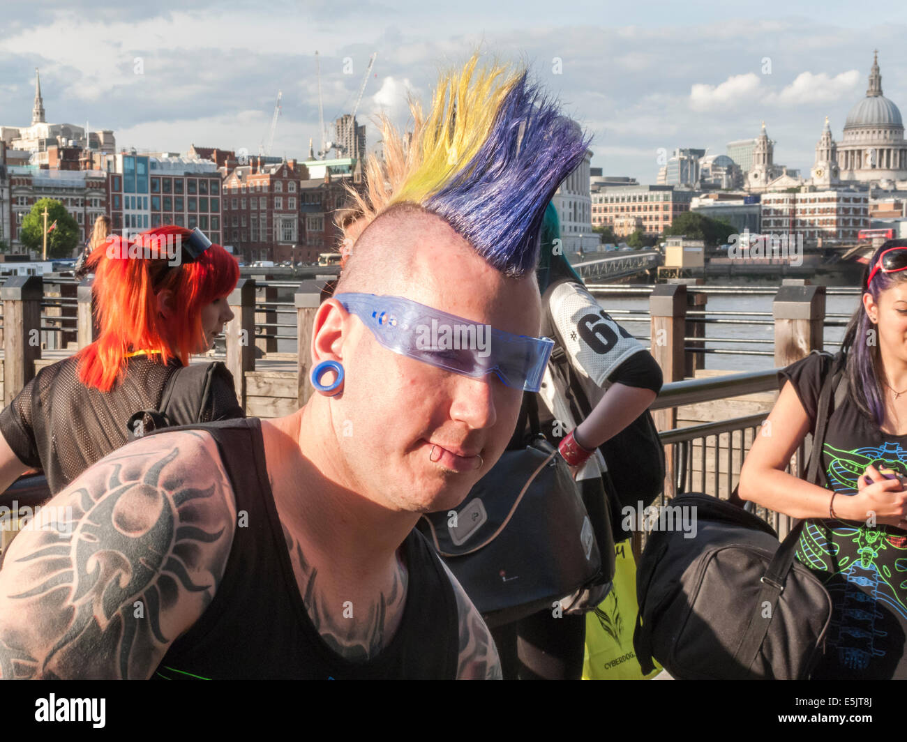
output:
<instances>
[{"instance_id":1,"label":"yellow-green plastic Cyberdog shopping bag","mask_svg":"<svg viewBox=\"0 0 907 742\"><path fill-rule=\"evenodd\" d=\"M633 630L639 605L636 601L636 561L629 540L614 547L614 587L595 610L586 614L584 680L648 680L661 671L656 663L649 675L633 650Z\"/></svg>"}]
</instances>

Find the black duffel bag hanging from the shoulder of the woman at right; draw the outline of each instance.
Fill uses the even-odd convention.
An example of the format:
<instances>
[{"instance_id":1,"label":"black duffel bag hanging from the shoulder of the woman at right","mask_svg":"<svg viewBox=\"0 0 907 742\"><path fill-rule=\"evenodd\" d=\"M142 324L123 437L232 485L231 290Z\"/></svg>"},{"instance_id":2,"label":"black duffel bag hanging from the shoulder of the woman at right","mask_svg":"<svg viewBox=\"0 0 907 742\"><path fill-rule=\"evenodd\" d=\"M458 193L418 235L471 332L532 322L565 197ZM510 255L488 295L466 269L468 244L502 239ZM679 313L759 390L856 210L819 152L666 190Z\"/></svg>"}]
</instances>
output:
<instances>
[{"instance_id":1,"label":"black duffel bag hanging from the shoulder of the woman at right","mask_svg":"<svg viewBox=\"0 0 907 742\"><path fill-rule=\"evenodd\" d=\"M840 366L819 395L813 483ZM795 562L803 522L779 544L771 526L734 503L688 493L671 506L692 509L681 512L695 517L695 537L652 532L642 553L633 647L643 672L654 658L676 679L807 679L822 658L832 600Z\"/></svg>"}]
</instances>

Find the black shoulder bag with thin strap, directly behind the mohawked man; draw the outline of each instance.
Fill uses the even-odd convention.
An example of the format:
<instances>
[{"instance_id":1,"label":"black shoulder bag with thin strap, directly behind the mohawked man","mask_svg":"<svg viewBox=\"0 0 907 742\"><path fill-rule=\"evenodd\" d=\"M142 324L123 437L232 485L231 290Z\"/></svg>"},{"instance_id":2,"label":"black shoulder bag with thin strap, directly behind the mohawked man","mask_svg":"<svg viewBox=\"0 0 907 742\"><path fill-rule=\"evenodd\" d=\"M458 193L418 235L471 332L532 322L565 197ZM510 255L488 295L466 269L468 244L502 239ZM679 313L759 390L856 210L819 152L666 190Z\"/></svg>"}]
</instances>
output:
<instances>
[{"instance_id":1,"label":"black shoulder bag with thin strap, directly behind the mohawked man","mask_svg":"<svg viewBox=\"0 0 907 742\"><path fill-rule=\"evenodd\" d=\"M552 610L581 589L595 588L597 605L614 575L610 531L608 543L597 543L570 466L538 434L534 395L524 403L532 423L524 445L505 451L455 512L429 513L417 524L490 628Z\"/></svg>"}]
</instances>

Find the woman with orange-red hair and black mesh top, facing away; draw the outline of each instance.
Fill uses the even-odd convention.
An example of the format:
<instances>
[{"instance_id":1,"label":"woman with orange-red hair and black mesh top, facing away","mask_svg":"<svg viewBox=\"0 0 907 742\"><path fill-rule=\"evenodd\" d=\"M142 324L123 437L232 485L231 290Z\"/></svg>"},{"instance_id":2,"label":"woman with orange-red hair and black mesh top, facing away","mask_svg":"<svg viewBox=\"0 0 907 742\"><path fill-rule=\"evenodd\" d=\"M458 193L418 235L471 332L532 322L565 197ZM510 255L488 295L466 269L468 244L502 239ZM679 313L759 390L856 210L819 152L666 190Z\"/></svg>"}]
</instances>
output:
<instances>
[{"instance_id":1,"label":"woman with orange-red hair and black mesh top, facing away","mask_svg":"<svg viewBox=\"0 0 907 742\"><path fill-rule=\"evenodd\" d=\"M0 411L0 492L40 468L58 493L129 441L127 421L157 410L171 375L204 353L233 318L227 305L239 265L200 232L149 229L113 236L87 261L94 274L99 335L75 356L46 366ZM233 378L218 364L201 420L244 416Z\"/></svg>"}]
</instances>

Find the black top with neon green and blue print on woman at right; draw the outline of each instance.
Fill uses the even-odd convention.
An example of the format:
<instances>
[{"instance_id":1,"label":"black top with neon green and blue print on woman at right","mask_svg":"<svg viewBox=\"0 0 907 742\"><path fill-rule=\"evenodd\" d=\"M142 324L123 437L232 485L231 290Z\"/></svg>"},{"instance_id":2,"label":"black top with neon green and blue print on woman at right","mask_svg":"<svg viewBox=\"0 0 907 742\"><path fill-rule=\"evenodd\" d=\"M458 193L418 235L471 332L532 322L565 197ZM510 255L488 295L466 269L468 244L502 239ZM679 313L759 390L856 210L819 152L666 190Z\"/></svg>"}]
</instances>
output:
<instances>
[{"instance_id":1,"label":"black top with neon green and blue print on woman at right","mask_svg":"<svg viewBox=\"0 0 907 742\"><path fill-rule=\"evenodd\" d=\"M779 373L781 386L790 380L813 424L830 368L831 356L813 354ZM853 495L869 464L907 474L907 435L883 433L845 395L825 434L819 467L824 486ZM813 678L907 678L907 532L809 518L796 557L824 582L833 603L825 656Z\"/></svg>"}]
</instances>

